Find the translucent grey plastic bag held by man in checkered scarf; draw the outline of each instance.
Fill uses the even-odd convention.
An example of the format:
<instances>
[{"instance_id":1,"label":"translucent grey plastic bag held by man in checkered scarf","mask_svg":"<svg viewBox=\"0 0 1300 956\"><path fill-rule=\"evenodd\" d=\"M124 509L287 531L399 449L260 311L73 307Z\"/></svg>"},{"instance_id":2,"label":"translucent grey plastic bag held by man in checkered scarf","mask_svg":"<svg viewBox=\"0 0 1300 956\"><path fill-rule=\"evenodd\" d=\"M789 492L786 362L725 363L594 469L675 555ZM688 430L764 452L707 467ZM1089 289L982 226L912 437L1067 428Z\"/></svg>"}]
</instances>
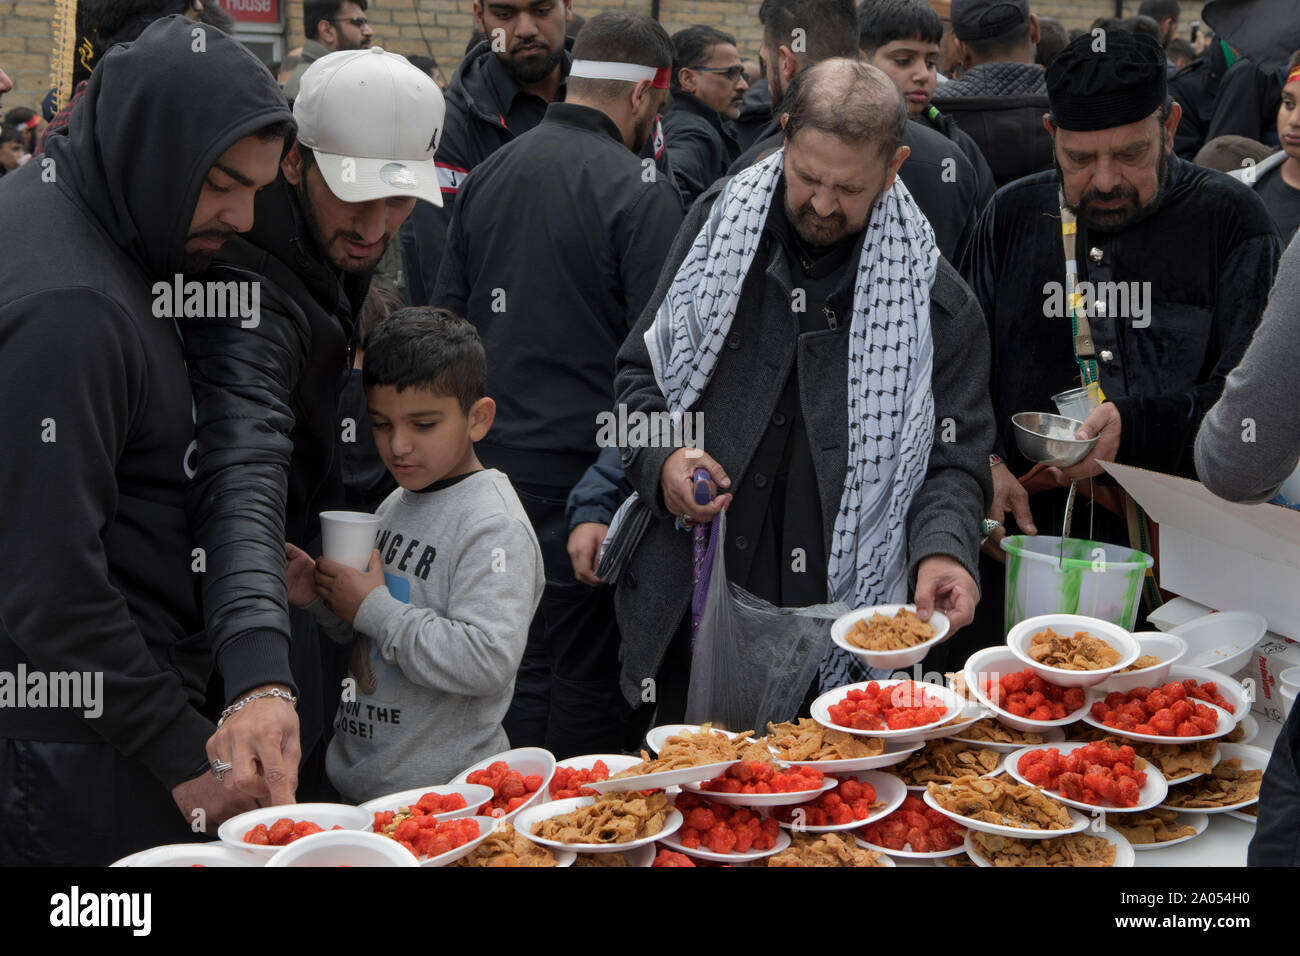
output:
<instances>
[{"instance_id":1,"label":"translucent grey plastic bag held by man in checkered scarf","mask_svg":"<svg viewBox=\"0 0 1300 956\"><path fill-rule=\"evenodd\" d=\"M766 732L790 721L831 646L844 604L776 607L727 580L722 541L727 512L714 519L719 546L690 663L686 722Z\"/></svg>"}]
</instances>

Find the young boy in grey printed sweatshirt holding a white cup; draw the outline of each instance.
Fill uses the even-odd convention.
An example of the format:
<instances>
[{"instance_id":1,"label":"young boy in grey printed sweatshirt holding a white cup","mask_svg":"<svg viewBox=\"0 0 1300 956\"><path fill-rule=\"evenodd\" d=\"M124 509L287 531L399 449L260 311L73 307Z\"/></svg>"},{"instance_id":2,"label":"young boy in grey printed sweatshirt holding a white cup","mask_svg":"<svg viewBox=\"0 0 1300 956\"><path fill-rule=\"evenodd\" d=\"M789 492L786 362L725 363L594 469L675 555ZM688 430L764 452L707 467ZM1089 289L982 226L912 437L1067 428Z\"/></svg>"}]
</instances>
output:
<instances>
[{"instance_id":1,"label":"young boy in grey printed sweatshirt holding a white cup","mask_svg":"<svg viewBox=\"0 0 1300 956\"><path fill-rule=\"evenodd\" d=\"M289 545L286 567L290 600L352 641L325 769L355 803L510 748L500 721L545 587L514 488L474 455L495 403L473 325L406 308L364 349L374 442L399 485L376 512L377 550L355 571Z\"/></svg>"}]
</instances>

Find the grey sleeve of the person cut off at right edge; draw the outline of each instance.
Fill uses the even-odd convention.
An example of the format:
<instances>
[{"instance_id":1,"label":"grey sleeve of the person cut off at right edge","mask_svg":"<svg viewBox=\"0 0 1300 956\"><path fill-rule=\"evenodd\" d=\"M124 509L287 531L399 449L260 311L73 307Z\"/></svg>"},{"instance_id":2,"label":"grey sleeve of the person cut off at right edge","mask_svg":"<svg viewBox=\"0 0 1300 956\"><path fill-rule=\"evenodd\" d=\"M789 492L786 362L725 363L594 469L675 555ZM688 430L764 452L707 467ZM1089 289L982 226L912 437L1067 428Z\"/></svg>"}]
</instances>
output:
<instances>
[{"instance_id":1,"label":"grey sleeve of the person cut off at right edge","mask_svg":"<svg viewBox=\"0 0 1300 956\"><path fill-rule=\"evenodd\" d=\"M1300 245L1282 254L1251 346L1196 434L1196 476L1228 501L1268 501L1300 460Z\"/></svg>"}]
</instances>

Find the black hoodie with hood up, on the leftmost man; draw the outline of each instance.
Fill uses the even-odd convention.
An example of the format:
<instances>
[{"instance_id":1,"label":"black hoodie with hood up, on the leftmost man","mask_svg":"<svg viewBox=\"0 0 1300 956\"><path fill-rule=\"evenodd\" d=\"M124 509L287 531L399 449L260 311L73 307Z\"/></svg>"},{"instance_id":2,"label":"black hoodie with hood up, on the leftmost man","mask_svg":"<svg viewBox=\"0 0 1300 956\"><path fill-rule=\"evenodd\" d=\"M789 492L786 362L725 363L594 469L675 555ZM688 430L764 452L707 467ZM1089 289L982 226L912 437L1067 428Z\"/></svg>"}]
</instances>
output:
<instances>
[{"instance_id":1,"label":"black hoodie with hood up, on the leftmost man","mask_svg":"<svg viewBox=\"0 0 1300 956\"><path fill-rule=\"evenodd\" d=\"M103 674L98 717L0 706L0 736L108 741L169 788L207 766L194 408L152 287L181 272L213 161L291 118L238 42L168 17L0 186L0 234L23 237L0 256L0 671Z\"/></svg>"}]
</instances>

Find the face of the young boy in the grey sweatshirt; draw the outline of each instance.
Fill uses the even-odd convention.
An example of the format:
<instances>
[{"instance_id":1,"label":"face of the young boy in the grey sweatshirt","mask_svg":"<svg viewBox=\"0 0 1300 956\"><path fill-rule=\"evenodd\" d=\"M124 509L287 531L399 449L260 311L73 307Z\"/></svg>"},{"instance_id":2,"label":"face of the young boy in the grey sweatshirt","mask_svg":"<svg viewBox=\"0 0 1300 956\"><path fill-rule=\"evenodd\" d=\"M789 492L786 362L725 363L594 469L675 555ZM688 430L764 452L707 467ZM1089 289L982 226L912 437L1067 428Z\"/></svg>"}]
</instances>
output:
<instances>
[{"instance_id":1,"label":"face of the young boy in the grey sweatshirt","mask_svg":"<svg viewBox=\"0 0 1300 956\"><path fill-rule=\"evenodd\" d=\"M393 385L372 385L365 402L380 458L410 490L477 468L474 442L488 434L497 411L490 398L480 398L467 415L458 398Z\"/></svg>"}]
</instances>

